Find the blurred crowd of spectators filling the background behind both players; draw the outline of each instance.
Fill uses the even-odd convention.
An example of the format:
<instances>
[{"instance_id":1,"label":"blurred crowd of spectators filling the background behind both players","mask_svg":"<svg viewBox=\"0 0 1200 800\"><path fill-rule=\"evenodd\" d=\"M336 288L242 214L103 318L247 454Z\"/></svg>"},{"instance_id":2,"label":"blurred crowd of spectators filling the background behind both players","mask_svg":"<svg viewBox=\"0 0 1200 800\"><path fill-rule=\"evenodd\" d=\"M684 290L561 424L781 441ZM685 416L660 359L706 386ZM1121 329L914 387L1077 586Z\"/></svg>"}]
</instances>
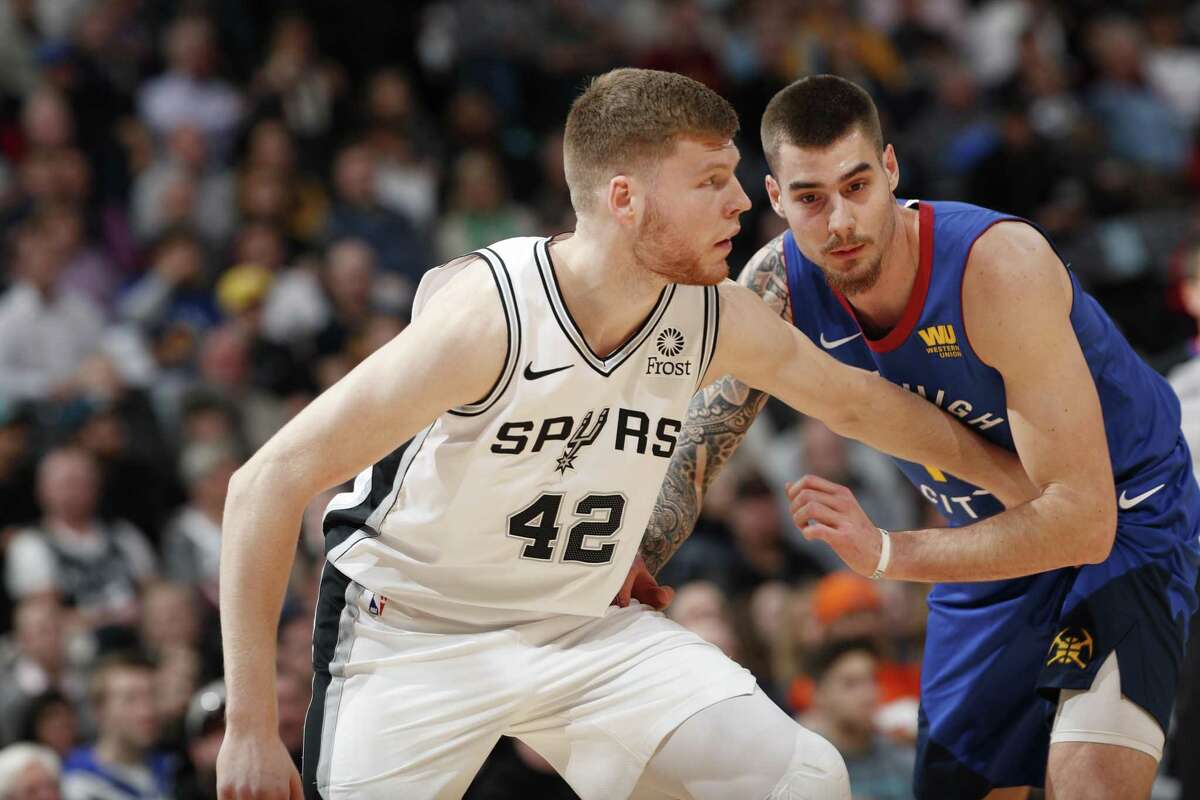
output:
<instances>
[{"instance_id":1,"label":"blurred crowd of spectators filling the background behind both players","mask_svg":"<svg viewBox=\"0 0 1200 800\"><path fill-rule=\"evenodd\" d=\"M562 122L622 65L737 107L734 271L782 230L767 100L845 76L880 104L899 194L1040 224L1200 433L1198 2L6 0L0 800L215 796L229 475L403 330L426 269L574 227ZM780 487L805 471L882 525L937 521L882 457L768 405L661 576L670 613L833 741L856 798L911 796L924 588L804 542ZM278 633L296 758L329 497ZM1156 796L1200 796L1170 750ZM503 740L468 796L574 795Z\"/></svg>"}]
</instances>

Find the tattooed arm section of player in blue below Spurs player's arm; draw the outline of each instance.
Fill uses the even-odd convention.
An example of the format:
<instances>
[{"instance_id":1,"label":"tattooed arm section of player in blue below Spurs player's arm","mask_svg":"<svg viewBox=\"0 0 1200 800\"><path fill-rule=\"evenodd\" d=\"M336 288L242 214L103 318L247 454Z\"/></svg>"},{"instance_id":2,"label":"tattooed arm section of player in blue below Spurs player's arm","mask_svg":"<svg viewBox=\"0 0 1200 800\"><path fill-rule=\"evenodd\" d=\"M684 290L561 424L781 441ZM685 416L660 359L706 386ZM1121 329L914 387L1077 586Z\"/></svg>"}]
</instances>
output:
<instances>
[{"instance_id":1,"label":"tattooed arm section of player in blue below Spurs player's arm","mask_svg":"<svg viewBox=\"0 0 1200 800\"><path fill-rule=\"evenodd\" d=\"M658 575L700 518L704 492L730 459L767 396L726 375L701 390L688 409L679 445L642 537L642 560Z\"/></svg>"}]
</instances>

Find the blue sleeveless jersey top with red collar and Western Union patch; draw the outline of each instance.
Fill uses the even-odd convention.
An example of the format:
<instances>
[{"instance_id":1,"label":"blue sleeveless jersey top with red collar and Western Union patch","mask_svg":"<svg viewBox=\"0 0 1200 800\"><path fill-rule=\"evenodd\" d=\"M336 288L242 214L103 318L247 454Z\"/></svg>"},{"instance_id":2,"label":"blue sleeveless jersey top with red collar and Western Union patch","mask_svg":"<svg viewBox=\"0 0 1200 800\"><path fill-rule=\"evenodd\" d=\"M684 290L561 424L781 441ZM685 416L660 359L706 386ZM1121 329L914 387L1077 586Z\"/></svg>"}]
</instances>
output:
<instances>
[{"instance_id":1,"label":"blue sleeveless jersey top with red collar and Western Union patch","mask_svg":"<svg viewBox=\"0 0 1200 800\"><path fill-rule=\"evenodd\" d=\"M990 441L1015 450L1000 373L971 349L962 320L961 287L967 257L991 225L1018 219L965 203L919 204L920 255L917 278L900 323L872 341L862 331L845 297L826 283L821 270L784 236L792 319L832 356L857 367L877 369L962 420ZM1108 433L1118 498L1144 522L1157 523L1170 509L1192 515L1192 524L1153 524L1138 541L1147 552L1172 549L1180 536L1192 539L1200 509L1190 470L1181 468L1187 445L1180 432L1180 403L1170 385L1129 347L1109 315L1070 276L1074 294L1072 326L1096 380ZM854 338L848 338L853 336ZM899 422L899 421L898 421ZM934 467L896 459L920 493L950 522L964 525L1003 506L988 492ZM1159 488L1160 487L1160 488ZM1123 512L1124 513L1124 512ZM1135 521L1134 521L1135 522ZM1162 541L1154 541L1162 540ZM990 584L965 591L989 594ZM1183 610L1183 609L1176 609Z\"/></svg>"}]
</instances>

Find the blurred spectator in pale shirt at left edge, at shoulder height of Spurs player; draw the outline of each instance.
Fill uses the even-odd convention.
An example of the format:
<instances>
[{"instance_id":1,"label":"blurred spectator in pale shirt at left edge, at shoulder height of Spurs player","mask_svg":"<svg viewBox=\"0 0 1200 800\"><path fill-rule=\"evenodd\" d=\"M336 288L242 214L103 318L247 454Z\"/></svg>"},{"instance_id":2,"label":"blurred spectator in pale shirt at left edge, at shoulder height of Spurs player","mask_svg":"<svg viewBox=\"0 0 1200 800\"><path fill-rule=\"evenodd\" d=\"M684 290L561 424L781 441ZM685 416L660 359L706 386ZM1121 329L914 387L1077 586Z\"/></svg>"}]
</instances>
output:
<instances>
[{"instance_id":1,"label":"blurred spectator in pale shirt at left edge, at shoulder height of Spurs player","mask_svg":"<svg viewBox=\"0 0 1200 800\"><path fill-rule=\"evenodd\" d=\"M13 249L18 279L0 296L0 397L65 399L101 339L103 313L62 288L65 254L41 223L22 225Z\"/></svg>"}]
</instances>

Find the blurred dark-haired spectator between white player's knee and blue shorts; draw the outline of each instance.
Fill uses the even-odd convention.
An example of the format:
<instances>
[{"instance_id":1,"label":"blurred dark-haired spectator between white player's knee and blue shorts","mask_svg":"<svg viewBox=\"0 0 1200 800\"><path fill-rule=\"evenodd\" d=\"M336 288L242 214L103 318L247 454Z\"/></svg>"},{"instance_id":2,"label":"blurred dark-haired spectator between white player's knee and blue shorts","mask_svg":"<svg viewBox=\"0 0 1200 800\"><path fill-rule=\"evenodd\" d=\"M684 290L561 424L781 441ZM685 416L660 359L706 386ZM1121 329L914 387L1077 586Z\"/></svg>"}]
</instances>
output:
<instances>
[{"instance_id":1,"label":"blurred dark-haired spectator between white player's knee and blue shorts","mask_svg":"<svg viewBox=\"0 0 1200 800\"><path fill-rule=\"evenodd\" d=\"M914 753L875 728L878 664L878 652L868 639L826 645L814 658L812 708L800 721L846 759L856 800L905 800L912 796Z\"/></svg>"}]
</instances>

